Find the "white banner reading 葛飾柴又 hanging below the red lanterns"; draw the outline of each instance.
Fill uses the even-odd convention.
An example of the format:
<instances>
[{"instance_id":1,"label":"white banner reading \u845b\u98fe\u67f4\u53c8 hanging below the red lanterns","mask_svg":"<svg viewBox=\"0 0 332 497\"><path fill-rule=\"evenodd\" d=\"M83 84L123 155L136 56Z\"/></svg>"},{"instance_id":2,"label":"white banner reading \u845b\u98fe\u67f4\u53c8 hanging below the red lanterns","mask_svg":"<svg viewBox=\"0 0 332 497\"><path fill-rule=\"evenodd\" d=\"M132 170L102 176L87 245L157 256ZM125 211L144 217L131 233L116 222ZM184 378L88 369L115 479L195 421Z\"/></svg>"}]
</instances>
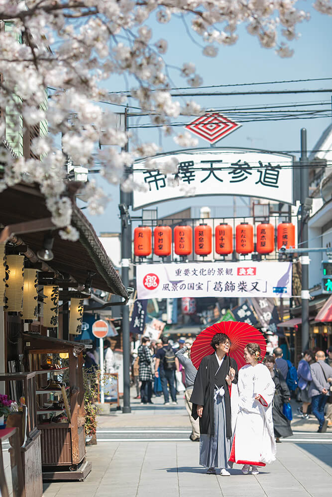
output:
<instances>
[{"instance_id":1,"label":"white banner reading \u845b\u98fe\u67f4\u53c8 hanging below the red lanterns","mask_svg":"<svg viewBox=\"0 0 332 497\"><path fill-rule=\"evenodd\" d=\"M139 299L176 297L290 297L291 262L140 264Z\"/></svg>"}]
</instances>

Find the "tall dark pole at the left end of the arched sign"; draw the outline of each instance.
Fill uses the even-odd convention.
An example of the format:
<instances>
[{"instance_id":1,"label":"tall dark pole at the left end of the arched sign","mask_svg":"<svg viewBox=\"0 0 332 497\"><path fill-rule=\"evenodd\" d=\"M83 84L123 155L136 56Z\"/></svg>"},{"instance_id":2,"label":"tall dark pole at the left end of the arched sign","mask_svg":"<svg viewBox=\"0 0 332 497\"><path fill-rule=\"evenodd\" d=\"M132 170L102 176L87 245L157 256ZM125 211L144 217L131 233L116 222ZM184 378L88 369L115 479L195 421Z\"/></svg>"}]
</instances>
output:
<instances>
[{"instance_id":1,"label":"tall dark pole at the left end of the arched sign","mask_svg":"<svg viewBox=\"0 0 332 497\"><path fill-rule=\"evenodd\" d=\"M128 128L128 113L124 111L124 126ZM128 142L124 149L128 152ZM129 171L125 168L124 179ZM121 279L124 287L129 286L129 262L131 260L131 220L129 206L131 205L131 193L124 192L120 187L120 218L121 218ZM129 306L122 306L122 347L123 347L123 408L122 413L130 413L130 337L129 337Z\"/></svg>"}]
</instances>

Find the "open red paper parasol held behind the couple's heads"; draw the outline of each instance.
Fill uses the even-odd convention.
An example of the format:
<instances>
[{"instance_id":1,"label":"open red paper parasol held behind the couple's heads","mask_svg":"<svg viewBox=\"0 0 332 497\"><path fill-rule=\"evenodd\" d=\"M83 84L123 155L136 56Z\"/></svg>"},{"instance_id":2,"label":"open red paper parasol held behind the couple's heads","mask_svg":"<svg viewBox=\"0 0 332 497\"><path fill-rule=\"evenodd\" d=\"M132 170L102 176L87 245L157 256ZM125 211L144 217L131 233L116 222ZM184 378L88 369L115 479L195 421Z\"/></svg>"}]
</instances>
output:
<instances>
[{"instance_id":1,"label":"open red paper parasol held behind the couple's heads","mask_svg":"<svg viewBox=\"0 0 332 497\"><path fill-rule=\"evenodd\" d=\"M258 343L261 350L261 356L264 357L266 354L266 341L260 331L247 323L222 321L221 323L216 323L215 325L206 328L206 330L201 331L194 341L190 352L190 358L196 369L198 369L201 364L203 357L214 352L210 343L212 337L216 333L225 333L229 337L231 341L229 356L235 359L239 368L245 364L243 353L247 343Z\"/></svg>"}]
</instances>

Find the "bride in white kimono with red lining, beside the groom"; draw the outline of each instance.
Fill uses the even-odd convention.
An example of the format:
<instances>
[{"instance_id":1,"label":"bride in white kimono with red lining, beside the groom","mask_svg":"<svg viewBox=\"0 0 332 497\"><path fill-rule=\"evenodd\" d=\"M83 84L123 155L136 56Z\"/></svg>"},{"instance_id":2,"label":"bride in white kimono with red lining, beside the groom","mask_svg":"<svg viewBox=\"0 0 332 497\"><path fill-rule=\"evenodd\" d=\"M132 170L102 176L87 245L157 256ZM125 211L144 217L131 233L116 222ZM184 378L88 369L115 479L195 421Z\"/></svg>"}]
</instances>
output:
<instances>
[{"instance_id":1,"label":"bride in white kimono with red lining, beside the groom","mask_svg":"<svg viewBox=\"0 0 332 497\"><path fill-rule=\"evenodd\" d=\"M244 474L248 474L252 466L251 473L258 475L257 466L275 460L272 421L275 385L269 370L258 364L260 347L257 343L245 346L244 358L247 364L238 372L238 411L229 462L243 464Z\"/></svg>"}]
</instances>

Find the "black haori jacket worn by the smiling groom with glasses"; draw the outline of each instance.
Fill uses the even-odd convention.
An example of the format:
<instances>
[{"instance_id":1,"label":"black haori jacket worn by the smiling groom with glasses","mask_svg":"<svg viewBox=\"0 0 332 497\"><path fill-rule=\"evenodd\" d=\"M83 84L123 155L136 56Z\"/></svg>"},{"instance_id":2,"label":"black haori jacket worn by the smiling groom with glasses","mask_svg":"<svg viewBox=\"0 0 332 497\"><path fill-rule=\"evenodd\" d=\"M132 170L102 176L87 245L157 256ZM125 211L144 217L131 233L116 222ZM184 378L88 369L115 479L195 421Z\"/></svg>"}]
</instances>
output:
<instances>
[{"instance_id":1,"label":"black haori jacket worn by the smiling groom with glasses","mask_svg":"<svg viewBox=\"0 0 332 497\"><path fill-rule=\"evenodd\" d=\"M200 432L203 435L207 434L213 436L215 434L214 395L215 385L217 385L218 388L223 386L225 391L226 436L227 438L232 436L230 397L225 379L230 366L235 370L235 377L232 383L237 383L237 364L236 361L231 359L228 355L226 355L222 361L221 368L217 374L216 371L219 368L219 364L215 353L203 357L198 369L190 402L193 403L192 416L194 419L198 418L197 406L203 406L203 414L200 418Z\"/></svg>"}]
</instances>

